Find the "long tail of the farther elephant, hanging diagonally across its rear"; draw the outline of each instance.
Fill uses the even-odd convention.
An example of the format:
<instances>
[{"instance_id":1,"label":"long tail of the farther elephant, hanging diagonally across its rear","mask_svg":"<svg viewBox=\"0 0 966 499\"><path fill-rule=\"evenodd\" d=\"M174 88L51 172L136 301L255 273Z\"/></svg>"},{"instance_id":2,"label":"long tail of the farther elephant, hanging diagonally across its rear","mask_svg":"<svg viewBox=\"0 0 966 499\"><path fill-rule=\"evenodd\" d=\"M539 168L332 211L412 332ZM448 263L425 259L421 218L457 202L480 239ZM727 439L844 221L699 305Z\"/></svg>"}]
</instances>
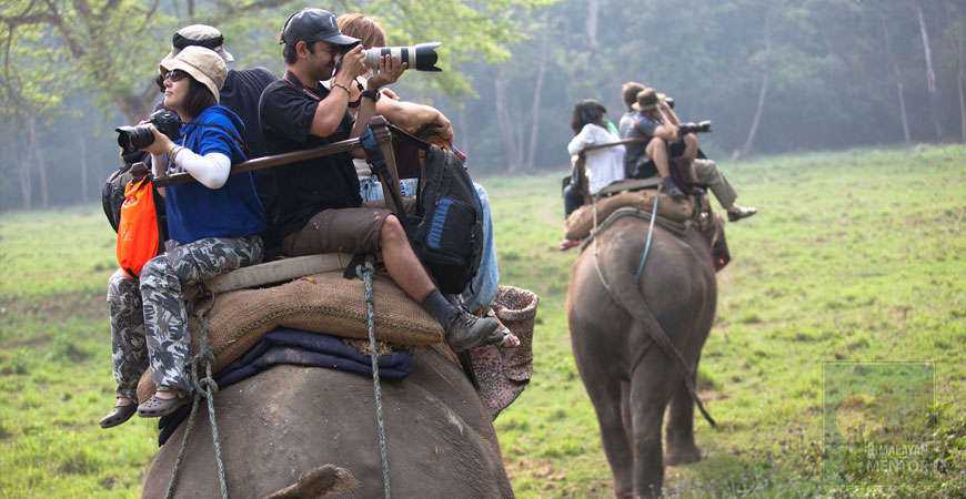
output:
<instances>
[{"instance_id":1,"label":"long tail of the farther elephant, hanging diagonally across its rear","mask_svg":"<svg viewBox=\"0 0 966 499\"><path fill-rule=\"evenodd\" d=\"M597 244L596 240L593 244ZM681 354L681 350L674 346L671 338L667 336L667 332L664 330L664 327L661 326L657 317L654 316L654 312L651 310L651 306L647 304L644 294L637 286L636 276L633 273L627 272L625 278L618 278L613 283L608 283L604 275L604 269L600 265L596 248L594 249L594 267L596 267L597 277L601 279L601 284L604 285L604 289L606 289L611 295L611 299L624 308L635 320L640 320L644 326L644 330L647 332L647 335L657 347L664 350L665 355L675 359L681 365L681 368L684 371L684 386L687 388L687 393L697 406L697 410L701 411L701 415L712 428L717 428L717 422L711 416L711 413L708 413L704 407L701 397L697 396L697 388L695 386L697 371L695 367L692 366L691 363L684 358L684 355ZM643 306L641 306L642 304ZM636 365L636 363L634 365Z\"/></svg>"}]
</instances>

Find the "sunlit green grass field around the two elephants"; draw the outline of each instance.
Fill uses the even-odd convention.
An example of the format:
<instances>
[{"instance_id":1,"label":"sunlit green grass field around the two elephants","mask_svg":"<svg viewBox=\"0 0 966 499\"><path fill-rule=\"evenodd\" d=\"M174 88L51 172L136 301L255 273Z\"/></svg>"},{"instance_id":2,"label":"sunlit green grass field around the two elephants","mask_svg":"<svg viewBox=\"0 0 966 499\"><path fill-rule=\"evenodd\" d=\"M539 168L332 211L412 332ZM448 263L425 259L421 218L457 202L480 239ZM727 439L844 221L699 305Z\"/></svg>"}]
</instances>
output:
<instances>
[{"instance_id":1,"label":"sunlit green grass field around the two elephants","mask_svg":"<svg viewBox=\"0 0 966 499\"><path fill-rule=\"evenodd\" d=\"M777 156L724 170L762 212L728 226L734 261L718 274L701 386L720 428L698 420L707 457L668 468L668 491L966 497L966 147ZM502 281L542 297L533 383L496 421L514 488L608 497L564 317L575 251L554 249L559 179L482 183ZM113 393L103 298L113 266L113 233L98 207L0 215L0 497L139 491L153 422L95 424ZM915 394L896 388L904 383ZM876 468L862 449L832 455L823 445L831 404L849 441L912 442L923 450L909 459L922 466ZM906 416L899 434L887 419L896 409Z\"/></svg>"}]
</instances>

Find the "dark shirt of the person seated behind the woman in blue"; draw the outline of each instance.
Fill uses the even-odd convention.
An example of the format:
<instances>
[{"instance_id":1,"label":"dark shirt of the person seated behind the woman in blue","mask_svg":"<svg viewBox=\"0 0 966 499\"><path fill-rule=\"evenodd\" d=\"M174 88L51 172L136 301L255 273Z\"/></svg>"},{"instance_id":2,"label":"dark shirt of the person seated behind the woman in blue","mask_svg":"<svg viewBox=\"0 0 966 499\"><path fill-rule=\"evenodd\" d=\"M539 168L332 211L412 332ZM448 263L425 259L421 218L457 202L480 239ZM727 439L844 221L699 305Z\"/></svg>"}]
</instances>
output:
<instances>
[{"instance_id":1,"label":"dark shirt of the person seated behind the woman in blue","mask_svg":"<svg viewBox=\"0 0 966 499\"><path fill-rule=\"evenodd\" d=\"M259 98L275 80L275 75L264 68L229 70L224 86L219 91L221 105L234 111L245 124L241 135L249 147L249 160L266 154L262 128L259 126Z\"/></svg>"}]
</instances>

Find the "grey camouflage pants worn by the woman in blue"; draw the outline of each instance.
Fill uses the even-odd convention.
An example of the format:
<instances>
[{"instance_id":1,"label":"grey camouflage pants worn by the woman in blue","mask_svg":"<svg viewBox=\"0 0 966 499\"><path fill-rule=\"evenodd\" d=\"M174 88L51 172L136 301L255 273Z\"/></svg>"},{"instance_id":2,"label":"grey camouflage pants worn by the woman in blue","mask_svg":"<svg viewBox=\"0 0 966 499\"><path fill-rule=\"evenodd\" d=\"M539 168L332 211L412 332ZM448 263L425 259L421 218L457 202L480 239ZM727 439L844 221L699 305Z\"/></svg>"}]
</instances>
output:
<instances>
[{"instance_id":1,"label":"grey camouflage pants worn by the woman in blue","mask_svg":"<svg viewBox=\"0 0 966 499\"><path fill-rule=\"evenodd\" d=\"M150 361L159 387L191 390L188 303L197 283L262 259L262 238L207 237L175 246L141 269L140 283L123 271L108 285L111 344L118 395L134 398Z\"/></svg>"}]
</instances>

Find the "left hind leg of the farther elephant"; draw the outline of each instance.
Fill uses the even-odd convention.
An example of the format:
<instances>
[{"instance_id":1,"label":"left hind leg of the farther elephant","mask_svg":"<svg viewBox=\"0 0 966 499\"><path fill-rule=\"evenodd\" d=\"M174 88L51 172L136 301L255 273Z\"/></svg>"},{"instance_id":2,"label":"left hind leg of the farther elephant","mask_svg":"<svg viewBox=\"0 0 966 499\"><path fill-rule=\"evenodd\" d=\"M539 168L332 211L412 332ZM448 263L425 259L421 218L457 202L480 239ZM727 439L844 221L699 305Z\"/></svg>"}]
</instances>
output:
<instances>
[{"instance_id":1,"label":"left hind leg of the farther elephant","mask_svg":"<svg viewBox=\"0 0 966 499\"><path fill-rule=\"evenodd\" d=\"M623 381L602 366L597 366L594 373L582 374L587 395L597 413L604 454L614 473L614 493L617 497L632 497L634 452L628 439L630 428L624 427L623 408L626 404L622 403Z\"/></svg>"}]
</instances>

